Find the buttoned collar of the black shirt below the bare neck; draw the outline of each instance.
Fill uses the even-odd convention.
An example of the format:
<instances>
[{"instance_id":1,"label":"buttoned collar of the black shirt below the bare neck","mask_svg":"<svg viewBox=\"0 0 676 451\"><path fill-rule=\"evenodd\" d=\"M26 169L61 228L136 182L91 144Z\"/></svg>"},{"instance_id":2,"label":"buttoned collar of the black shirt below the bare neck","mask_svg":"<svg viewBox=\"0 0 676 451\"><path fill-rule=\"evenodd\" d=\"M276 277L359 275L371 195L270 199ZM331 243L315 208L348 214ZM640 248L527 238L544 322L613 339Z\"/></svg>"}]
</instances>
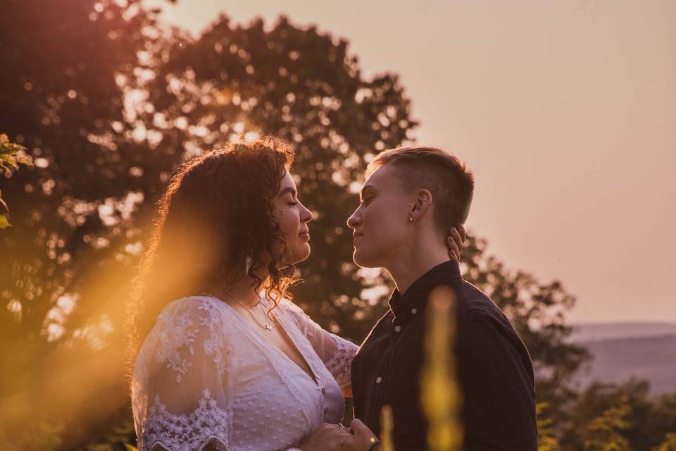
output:
<instances>
[{"instance_id":1,"label":"buttoned collar of the black shirt below the bare neck","mask_svg":"<svg viewBox=\"0 0 676 451\"><path fill-rule=\"evenodd\" d=\"M460 264L456 260L444 261L423 274L413 282L406 292L401 295L399 290L394 290L389 298L389 308L394 314L394 321L416 315L425 308L427 296L439 285L444 285L451 280L461 279Z\"/></svg>"}]
</instances>

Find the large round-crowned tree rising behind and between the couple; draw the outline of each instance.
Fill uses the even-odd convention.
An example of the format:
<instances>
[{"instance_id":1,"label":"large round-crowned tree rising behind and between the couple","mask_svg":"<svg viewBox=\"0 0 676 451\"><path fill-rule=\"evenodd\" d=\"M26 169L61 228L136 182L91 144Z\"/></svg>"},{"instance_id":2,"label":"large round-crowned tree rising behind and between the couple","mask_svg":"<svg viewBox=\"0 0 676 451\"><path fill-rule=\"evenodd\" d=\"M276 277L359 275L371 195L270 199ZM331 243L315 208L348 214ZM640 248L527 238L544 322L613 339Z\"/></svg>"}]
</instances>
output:
<instances>
[{"instance_id":1,"label":"large round-crowned tree rising behind and between the couple","mask_svg":"<svg viewBox=\"0 0 676 451\"><path fill-rule=\"evenodd\" d=\"M361 339L375 317L363 308L364 280L351 258L345 222L358 197L349 187L373 152L401 144L415 123L397 78L364 78L347 49L286 18L266 29L262 20L232 27L221 17L197 41L166 51L144 85L152 107L139 107L138 121L148 140L161 137L158 147L188 156L241 135L294 143L299 197L314 214L296 302Z\"/></svg>"}]
</instances>

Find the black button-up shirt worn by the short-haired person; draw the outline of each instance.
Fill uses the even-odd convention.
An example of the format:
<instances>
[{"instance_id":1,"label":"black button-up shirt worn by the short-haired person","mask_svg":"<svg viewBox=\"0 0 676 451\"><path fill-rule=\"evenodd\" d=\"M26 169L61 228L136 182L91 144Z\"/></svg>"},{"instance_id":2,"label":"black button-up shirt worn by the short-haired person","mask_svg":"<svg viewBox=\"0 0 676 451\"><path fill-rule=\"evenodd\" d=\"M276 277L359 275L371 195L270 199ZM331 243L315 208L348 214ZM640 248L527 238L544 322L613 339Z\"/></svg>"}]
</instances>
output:
<instances>
[{"instance_id":1,"label":"black button-up shirt worn by the short-haired person","mask_svg":"<svg viewBox=\"0 0 676 451\"><path fill-rule=\"evenodd\" d=\"M446 285L456 292L456 366L463 396L463 450L537 451L533 366L507 317L446 261L394 290L390 310L371 330L352 364L354 414L380 435L380 412L392 407L397 451L425 450L420 402L425 357L425 304Z\"/></svg>"}]
</instances>

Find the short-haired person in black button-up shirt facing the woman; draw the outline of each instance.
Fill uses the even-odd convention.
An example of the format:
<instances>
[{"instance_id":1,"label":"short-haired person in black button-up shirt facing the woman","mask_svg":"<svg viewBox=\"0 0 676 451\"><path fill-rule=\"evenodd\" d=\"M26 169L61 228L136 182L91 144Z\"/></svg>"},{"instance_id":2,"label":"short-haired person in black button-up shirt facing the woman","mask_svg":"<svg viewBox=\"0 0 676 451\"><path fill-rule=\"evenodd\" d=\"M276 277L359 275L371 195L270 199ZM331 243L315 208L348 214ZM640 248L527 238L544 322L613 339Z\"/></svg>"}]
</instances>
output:
<instances>
[{"instance_id":1,"label":"short-haired person in black button-up shirt facing the woman","mask_svg":"<svg viewBox=\"0 0 676 451\"><path fill-rule=\"evenodd\" d=\"M439 286L456 295L458 383L463 398L463 450L536 451L534 372L530 355L503 312L461 276L444 244L464 233L474 176L456 156L434 147L377 155L366 171L361 204L348 220L353 258L385 268L396 290L352 364L355 438L344 451L368 449L380 434L380 412L392 407L396 450L425 450L420 397L425 309ZM357 421L357 420L356 420ZM358 446L357 446L358 445ZM377 445L374 445L374 449Z\"/></svg>"}]
</instances>

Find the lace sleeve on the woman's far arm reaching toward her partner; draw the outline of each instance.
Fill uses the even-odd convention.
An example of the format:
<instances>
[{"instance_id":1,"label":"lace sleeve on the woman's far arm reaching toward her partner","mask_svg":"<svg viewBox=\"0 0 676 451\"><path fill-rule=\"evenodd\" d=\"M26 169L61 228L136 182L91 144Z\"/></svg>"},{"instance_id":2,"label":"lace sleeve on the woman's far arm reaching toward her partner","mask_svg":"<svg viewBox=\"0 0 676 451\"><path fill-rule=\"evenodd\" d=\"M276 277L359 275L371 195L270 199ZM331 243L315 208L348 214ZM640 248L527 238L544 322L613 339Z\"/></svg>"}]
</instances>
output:
<instances>
[{"instance_id":1,"label":"lace sleeve on the woman's far arm reaching toward her partner","mask_svg":"<svg viewBox=\"0 0 676 451\"><path fill-rule=\"evenodd\" d=\"M284 302L299 329L324 362L340 388L351 385L352 359L359 347L353 342L327 332L291 301Z\"/></svg>"}]
</instances>

